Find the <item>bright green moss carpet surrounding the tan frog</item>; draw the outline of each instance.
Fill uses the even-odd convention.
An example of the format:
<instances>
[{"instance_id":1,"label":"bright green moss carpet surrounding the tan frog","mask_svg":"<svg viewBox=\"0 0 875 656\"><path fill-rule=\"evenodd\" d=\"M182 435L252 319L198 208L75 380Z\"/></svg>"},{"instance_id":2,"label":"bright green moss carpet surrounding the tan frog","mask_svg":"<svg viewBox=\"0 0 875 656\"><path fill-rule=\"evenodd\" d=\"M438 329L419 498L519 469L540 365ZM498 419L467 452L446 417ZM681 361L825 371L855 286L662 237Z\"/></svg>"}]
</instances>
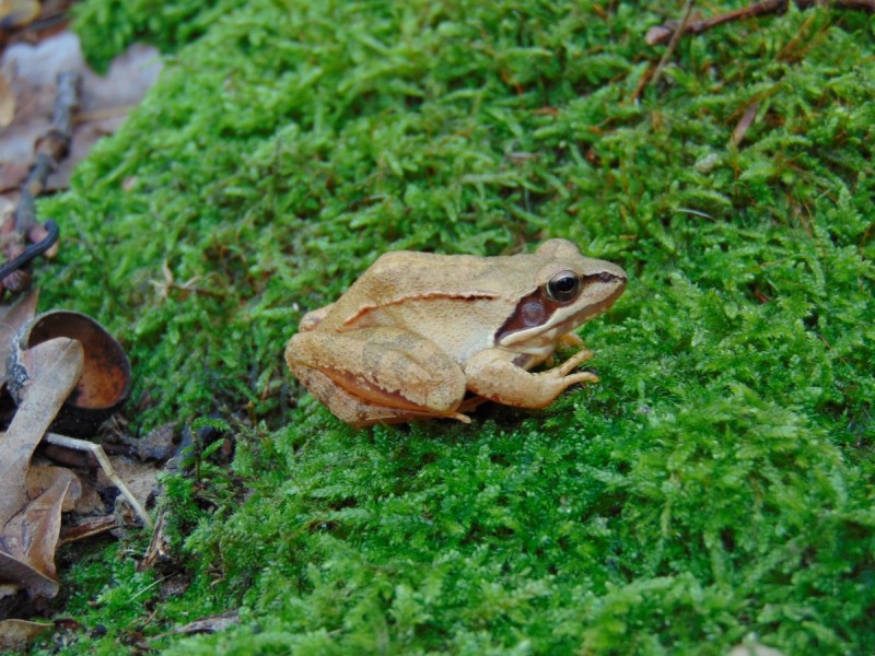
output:
<instances>
[{"instance_id":1,"label":"bright green moss carpet surrounding the tan frog","mask_svg":"<svg viewBox=\"0 0 875 656\"><path fill-rule=\"evenodd\" d=\"M65 235L43 303L124 341L139 430L218 414L236 452L165 481L184 593L136 572L142 539L67 570L66 652L234 608L150 644L875 652L872 16L725 25L643 85L679 3L148 4L80 9L104 63L135 35L175 55L40 204ZM378 254L550 236L631 274L583 330L597 386L354 432L285 372Z\"/></svg>"}]
</instances>

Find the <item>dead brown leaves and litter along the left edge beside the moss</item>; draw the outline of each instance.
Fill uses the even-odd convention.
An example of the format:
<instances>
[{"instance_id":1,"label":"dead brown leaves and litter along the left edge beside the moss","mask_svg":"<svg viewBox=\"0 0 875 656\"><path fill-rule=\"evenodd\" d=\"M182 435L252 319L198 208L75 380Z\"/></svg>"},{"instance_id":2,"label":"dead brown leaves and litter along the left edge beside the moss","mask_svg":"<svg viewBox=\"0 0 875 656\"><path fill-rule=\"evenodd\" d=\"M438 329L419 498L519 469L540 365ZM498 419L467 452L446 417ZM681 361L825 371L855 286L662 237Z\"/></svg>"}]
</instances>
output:
<instances>
[{"instance_id":1,"label":"dead brown leaves and litter along the left edge beside the moss","mask_svg":"<svg viewBox=\"0 0 875 656\"><path fill-rule=\"evenodd\" d=\"M0 8L0 13L4 11ZM30 23L33 17L21 24ZM34 211L27 211L23 202L20 206L20 199L28 194L36 196L66 188L75 164L98 139L120 127L128 112L156 80L161 67L155 48L133 45L116 58L105 77L100 77L85 65L78 37L67 31L35 45L16 43L5 47L0 58L0 222L7 226L15 224L18 229L19 214L25 212L33 214L31 223L35 223ZM35 173L46 168L40 152L58 132L59 98L65 94L61 81L70 75L75 78L77 95L68 103L73 114L68 128L61 130L65 141L52 153L47 172L36 176L38 188L32 188ZM32 206L31 200L27 207ZM50 221L45 226L35 223L43 233L52 230L52 225ZM43 238L42 233L36 238L31 235L34 243ZM14 256L7 253L5 257L10 263ZM25 265L27 278L22 289L30 288L26 269ZM9 285L5 289L14 291ZM3 293L0 289L0 295ZM21 599L52 598L58 594L55 555L60 544L136 524L130 515L119 514L120 506L116 513L106 515L95 489L117 488L139 522L152 528L152 520L138 497L147 499L155 489L154 464L144 464L144 458L139 464L129 464L125 458L110 461L100 444L51 431L58 423L58 414L69 413L72 399L81 397L82 389L88 388L88 393L93 385L105 385L106 377L85 383L88 375L83 378L83 367L86 374L94 368L89 364L93 361L89 359L89 350L94 347L88 340L83 347L83 342L72 338L79 336L51 336L35 344L18 343L25 327L34 321L37 296L35 290L30 290L15 303L0 307L0 395L10 405L8 393L14 388L13 398L19 405L5 433L0 433L0 649L22 648L54 625L14 616L25 612L16 610ZM127 363L124 351L121 358ZM129 378L129 365L126 375ZM14 385L8 387L10 382ZM128 388L125 386L125 397ZM94 434L96 430L86 436ZM43 456L50 452L71 453L68 449L84 452L84 466L89 469L96 466L100 473L90 482L68 467L36 464L38 446ZM138 455L136 449L125 448ZM82 464L80 459L79 465ZM124 479L116 475L116 468ZM136 495L125 479L135 481ZM72 512L84 518L74 525L66 522L68 526L62 527L62 514Z\"/></svg>"}]
</instances>

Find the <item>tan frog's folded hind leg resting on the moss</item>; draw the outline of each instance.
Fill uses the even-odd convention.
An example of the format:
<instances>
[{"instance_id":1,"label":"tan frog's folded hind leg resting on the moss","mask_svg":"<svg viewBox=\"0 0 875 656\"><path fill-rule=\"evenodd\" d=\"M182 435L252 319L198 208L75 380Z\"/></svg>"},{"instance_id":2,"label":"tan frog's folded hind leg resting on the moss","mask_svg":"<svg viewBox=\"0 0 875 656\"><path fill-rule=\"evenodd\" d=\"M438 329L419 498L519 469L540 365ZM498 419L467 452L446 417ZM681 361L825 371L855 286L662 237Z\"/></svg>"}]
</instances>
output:
<instances>
[{"instance_id":1,"label":"tan frog's folded hind leg resting on the moss","mask_svg":"<svg viewBox=\"0 0 875 656\"><path fill-rule=\"evenodd\" d=\"M433 342L397 328L299 332L285 347L292 373L355 426L430 417L466 421L462 368Z\"/></svg>"}]
</instances>

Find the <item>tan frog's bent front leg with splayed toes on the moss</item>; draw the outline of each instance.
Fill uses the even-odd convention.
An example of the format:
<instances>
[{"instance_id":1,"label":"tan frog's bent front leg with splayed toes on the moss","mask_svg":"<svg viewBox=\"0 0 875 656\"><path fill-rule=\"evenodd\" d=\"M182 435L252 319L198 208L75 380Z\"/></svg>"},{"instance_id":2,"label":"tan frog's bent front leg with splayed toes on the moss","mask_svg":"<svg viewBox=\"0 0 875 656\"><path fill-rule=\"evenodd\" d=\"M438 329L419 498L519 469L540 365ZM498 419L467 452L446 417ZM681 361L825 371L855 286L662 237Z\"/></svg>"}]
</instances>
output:
<instances>
[{"instance_id":1,"label":"tan frog's bent front leg with splayed toes on the moss","mask_svg":"<svg viewBox=\"0 0 875 656\"><path fill-rule=\"evenodd\" d=\"M598 376L592 372L571 373L593 356L592 351L578 351L559 366L538 373L514 364L517 355L504 349L477 353L465 367L468 389L505 406L544 408L571 385L598 382Z\"/></svg>"}]
</instances>

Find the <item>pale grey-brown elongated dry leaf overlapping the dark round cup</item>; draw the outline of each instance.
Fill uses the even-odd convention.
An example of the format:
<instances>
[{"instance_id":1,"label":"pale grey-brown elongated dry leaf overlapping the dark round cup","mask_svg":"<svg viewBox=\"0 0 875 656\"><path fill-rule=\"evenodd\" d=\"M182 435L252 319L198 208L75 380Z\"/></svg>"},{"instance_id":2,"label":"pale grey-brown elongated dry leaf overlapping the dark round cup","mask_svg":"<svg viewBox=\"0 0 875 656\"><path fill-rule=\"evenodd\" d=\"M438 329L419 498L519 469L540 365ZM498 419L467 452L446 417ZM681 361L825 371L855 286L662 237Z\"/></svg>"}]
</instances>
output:
<instances>
[{"instance_id":1,"label":"pale grey-brown elongated dry leaf overlapping the dark round cup","mask_svg":"<svg viewBox=\"0 0 875 656\"><path fill-rule=\"evenodd\" d=\"M84 354L77 340L57 338L24 352L27 384L12 423L0 441L0 537L27 501L31 455L82 376Z\"/></svg>"}]
</instances>

